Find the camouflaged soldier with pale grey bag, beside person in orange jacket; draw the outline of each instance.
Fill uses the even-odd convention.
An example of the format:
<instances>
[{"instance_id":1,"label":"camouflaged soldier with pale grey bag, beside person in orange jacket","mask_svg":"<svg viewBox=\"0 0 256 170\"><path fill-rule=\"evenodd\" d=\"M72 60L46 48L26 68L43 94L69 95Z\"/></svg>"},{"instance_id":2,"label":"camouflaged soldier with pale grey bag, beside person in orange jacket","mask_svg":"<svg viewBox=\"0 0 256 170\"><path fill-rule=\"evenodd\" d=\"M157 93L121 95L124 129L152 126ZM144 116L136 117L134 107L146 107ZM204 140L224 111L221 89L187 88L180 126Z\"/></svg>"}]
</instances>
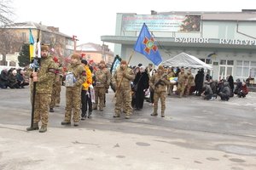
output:
<instances>
[{"instance_id":1,"label":"camouflaged soldier with pale grey bag, beside person in orange jacket","mask_svg":"<svg viewBox=\"0 0 256 170\"><path fill-rule=\"evenodd\" d=\"M81 89L82 84L86 80L86 72L84 66L81 64L79 54L72 54L71 65L67 66L67 73L73 77L72 85L67 86L66 76L66 111L65 119L61 125L70 125L73 109L74 126L79 126L80 121L80 107L81 107Z\"/></svg>"}]
</instances>

